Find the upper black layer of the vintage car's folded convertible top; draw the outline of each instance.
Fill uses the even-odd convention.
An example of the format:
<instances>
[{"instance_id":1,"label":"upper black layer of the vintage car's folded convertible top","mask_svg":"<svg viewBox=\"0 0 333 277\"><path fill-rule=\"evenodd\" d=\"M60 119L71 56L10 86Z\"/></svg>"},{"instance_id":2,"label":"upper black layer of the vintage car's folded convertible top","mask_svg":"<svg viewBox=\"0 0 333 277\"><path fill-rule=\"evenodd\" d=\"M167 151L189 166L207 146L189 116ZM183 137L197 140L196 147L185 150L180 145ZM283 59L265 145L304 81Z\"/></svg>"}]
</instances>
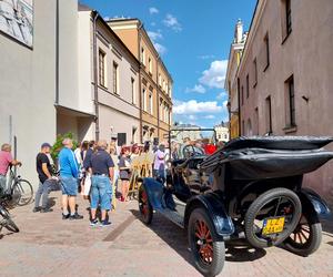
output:
<instances>
[{"instance_id":1,"label":"upper black layer of the vintage car's folded convertible top","mask_svg":"<svg viewBox=\"0 0 333 277\"><path fill-rule=\"evenodd\" d=\"M317 150L333 142L332 136L241 136L230 141L224 151L258 147L266 150Z\"/></svg>"}]
</instances>

